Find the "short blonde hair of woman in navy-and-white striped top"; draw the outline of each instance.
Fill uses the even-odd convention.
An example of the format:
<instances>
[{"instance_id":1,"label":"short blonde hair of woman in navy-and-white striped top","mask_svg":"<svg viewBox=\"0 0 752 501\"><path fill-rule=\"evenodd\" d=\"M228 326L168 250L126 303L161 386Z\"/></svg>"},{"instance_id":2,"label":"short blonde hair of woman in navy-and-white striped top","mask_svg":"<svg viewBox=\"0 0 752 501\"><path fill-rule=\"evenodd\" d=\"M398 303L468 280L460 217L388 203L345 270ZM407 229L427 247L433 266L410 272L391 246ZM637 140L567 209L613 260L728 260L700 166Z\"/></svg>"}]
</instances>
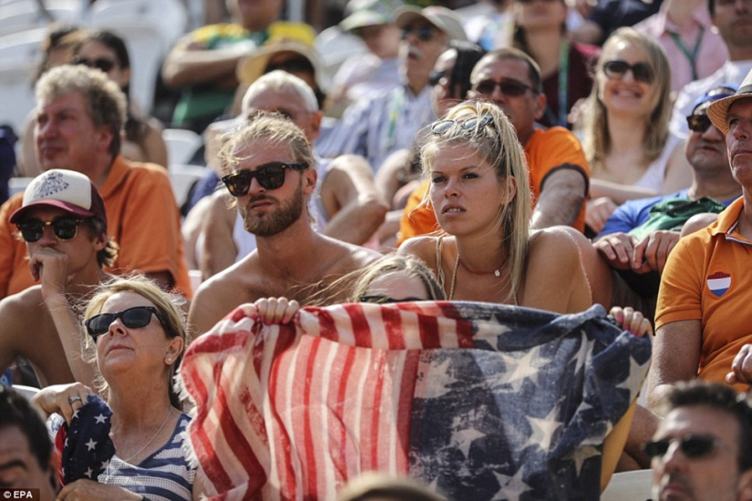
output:
<instances>
[{"instance_id":1,"label":"short blonde hair of woman in navy-and-white striped top","mask_svg":"<svg viewBox=\"0 0 752 501\"><path fill-rule=\"evenodd\" d=\"M180 303L184 302L184 300L176 294L162 291L156 281L149 280L143 275L118 277L98 286L84 311L84 319L89 319L102 312L105 302L119 292L133 292L151 302L159 312L160 325L167 338L180 337L183 340L182 351L175 360L175 363L170 365L167 373L170 404L178 409L182 409L179 393L174 388L172 381L175 372L180 367L183 353L189 342L185 328L185 313L180 309ZM87 336L87 346L94 350L94 342L89 336ZM107 382L104 378L100 378L99 389L100 392L108 390Z\"/></svg>"}]
</instances>

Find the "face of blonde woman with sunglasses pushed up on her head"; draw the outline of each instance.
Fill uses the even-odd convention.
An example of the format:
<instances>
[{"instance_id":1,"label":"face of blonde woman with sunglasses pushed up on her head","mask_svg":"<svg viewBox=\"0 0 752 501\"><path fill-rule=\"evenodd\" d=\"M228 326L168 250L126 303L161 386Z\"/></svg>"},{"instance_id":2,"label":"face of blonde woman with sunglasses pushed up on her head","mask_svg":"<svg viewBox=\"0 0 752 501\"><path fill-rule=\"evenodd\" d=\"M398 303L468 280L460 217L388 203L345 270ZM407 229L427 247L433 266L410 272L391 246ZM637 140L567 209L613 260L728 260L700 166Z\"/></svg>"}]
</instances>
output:
<instances>
[{"instance_id":1,"label":"face of blonde woman with sunglasses pushed up on her head","mask_svg":"<svg viewBox=\"0 0 752 501\"><path fill-rule=\"evenodd\" d=\"M439 148L431 164L430 198L438 223L451 235L499 228L507 197L496 171L467 145Z\"/></svg>"}]
</instances>

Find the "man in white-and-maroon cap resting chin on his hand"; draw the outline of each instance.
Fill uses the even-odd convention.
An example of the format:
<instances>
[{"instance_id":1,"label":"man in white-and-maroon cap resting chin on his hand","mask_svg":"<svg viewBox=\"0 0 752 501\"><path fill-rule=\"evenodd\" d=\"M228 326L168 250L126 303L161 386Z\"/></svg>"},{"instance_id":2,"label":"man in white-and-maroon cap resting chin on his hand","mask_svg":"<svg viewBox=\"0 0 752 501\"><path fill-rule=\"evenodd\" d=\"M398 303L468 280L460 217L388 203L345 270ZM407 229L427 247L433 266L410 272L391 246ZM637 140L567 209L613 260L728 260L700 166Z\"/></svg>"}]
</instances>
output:
<instances>
[{"instance_id":1,"label":"man in white-and-maroon cap resting chin on his hand","mask_svg":"<svg viewBox=\"0 0 752 501\"><path fill-rule=\"evenodd\" d=\"M112 278L103 268L118 255L99 190L79 172L48 170L31 181L10 222L26 242L26 273L40 283L0 301L0 372L22 356L42 384L94 383L75 311Z\"/></svg>"}]
</instances>

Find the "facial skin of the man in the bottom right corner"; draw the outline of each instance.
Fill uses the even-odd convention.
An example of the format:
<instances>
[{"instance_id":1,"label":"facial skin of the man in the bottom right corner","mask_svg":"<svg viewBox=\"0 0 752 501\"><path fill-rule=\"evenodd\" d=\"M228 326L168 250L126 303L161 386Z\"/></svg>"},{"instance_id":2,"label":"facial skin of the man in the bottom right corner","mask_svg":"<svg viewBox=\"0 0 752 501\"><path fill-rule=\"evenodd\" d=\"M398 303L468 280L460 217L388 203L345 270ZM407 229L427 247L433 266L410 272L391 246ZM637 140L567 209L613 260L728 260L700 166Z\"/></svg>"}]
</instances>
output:
<instances>
[{"instance_id":1,"label":"facial skin of the man in the bottom right corner","mask_svg":"<svg viewBox=\"0 0 752 501\"><path fill-rule=\"evenodd\" d=\"M679 407L659 424L654 440L713 435L722 445L705 457L688 458L673 442L653 459L654 496L661 501L732 501L737 497L739 425L732 414L695 405Z\"/></svg>"}]
</instances>

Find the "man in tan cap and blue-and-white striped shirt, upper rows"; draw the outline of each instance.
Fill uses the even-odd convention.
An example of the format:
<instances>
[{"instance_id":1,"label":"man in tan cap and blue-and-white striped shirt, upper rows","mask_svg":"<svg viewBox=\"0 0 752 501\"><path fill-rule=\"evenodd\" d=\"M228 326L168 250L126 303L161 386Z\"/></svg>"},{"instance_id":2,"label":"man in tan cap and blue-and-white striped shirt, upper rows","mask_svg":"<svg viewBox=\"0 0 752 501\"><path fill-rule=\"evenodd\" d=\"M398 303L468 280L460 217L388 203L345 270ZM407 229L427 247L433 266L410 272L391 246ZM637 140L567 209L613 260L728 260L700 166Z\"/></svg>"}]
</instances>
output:
<instances>
[{"instance_id":1,"label":"man in tan cap and blue-and-white striped shirt, upper rows","mask_svg":"<svg viewBox=\"0 0 752 501\"><path fill-rule=\"evenodd\" d=\"M404 6L393 19L402 30L402 85L347 107L335 128L316 145L320 157L361 155L376 172L389 155L412 148L417 131L435 119L428 85L433 66L450 40L467 41L468 37L458 15L445 7Z\"/></svg>"}]
</instances>

